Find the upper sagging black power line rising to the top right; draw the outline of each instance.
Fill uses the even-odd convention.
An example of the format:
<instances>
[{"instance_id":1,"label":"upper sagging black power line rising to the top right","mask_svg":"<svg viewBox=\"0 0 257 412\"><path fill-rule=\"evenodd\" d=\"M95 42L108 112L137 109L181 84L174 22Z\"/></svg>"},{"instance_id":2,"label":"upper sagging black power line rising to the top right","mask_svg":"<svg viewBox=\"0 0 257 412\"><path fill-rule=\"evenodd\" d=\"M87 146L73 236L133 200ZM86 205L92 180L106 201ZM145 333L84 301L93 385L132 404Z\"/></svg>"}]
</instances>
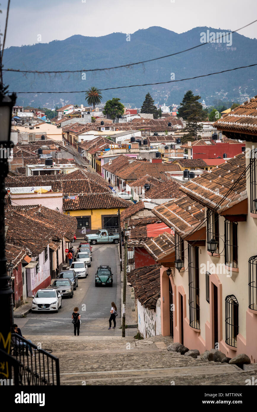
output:
<instances>
[{"instance_id":1,"label":"upper sagging black power line rising to the top right","mask_svg":"<svg viewBox=\"0 0 257 412\"><path fill-rule=\"evenodd\" d=\"M242 30L245 27L250 26L251 24L255 23L257 21L254 20L251 23L246 24L245 26L238 28L237 30L231 31L229 33L233 34L236 33L239 30ZM219 36L217 40L222 40L223 37L226 37L226 33L224 35L222 35L221 37ZM103 70L111 70L111 69L119 69L119 68L130 68L131 66L136 66L138 64L142 64L142 63L147 63L150 61L155 61L155 60L160 60L160 59L166 59L167 57L171 57L171 56L176 56L177 54L181 54L181 53L185 53L185 52L189 52L190 50L196 49L197 47L201 47L204 44L209 44L209 42L204 42L201 44L197 44L197 46L193 46L190 47L189 49L185 49L185 50L181 50L180 52L176 52L176 53L172 53L172 54L167 54L166 56L161 56L161 57L156 57L154 59L148 59L148 60L143 60L143 61L138 61L136 63L128 63L128 64L123 64L121 66L113 66L113 67L106 67L106 68L102 68L102 69L86 69L86 70L56 70L56 71L37 71L37 70L19 70L19 69L3 69L4 71L9 71L9 72L19 72L19 73L37 73L37 74L44 74L44 73L81 73L81 72L95 72L95 71L103 71ZM222 43L222 42L220 42Z\"/></svg>"}]
</instances>

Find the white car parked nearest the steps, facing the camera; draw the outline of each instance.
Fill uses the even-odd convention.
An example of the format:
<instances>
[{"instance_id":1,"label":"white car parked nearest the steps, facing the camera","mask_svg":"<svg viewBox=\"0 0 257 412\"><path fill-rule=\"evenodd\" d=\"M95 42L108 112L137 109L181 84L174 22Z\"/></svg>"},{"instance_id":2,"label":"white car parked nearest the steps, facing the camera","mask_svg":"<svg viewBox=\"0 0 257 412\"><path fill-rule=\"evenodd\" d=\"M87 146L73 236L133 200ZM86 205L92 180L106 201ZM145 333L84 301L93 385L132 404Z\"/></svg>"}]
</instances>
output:
<instances>
[{"instance_id":1,"label":"white car parked nearest the steps, facing the camera","mask_svg":"<svg viewBox=\"0 0 257 412\"><path fill-rule=\"evenodd\" d=\"M61 293L56 289L39 289L37 293L31 296L32 307L31 310L35 311L55 311L58 312L61 309Z\"/></svg>"}]
</instances>

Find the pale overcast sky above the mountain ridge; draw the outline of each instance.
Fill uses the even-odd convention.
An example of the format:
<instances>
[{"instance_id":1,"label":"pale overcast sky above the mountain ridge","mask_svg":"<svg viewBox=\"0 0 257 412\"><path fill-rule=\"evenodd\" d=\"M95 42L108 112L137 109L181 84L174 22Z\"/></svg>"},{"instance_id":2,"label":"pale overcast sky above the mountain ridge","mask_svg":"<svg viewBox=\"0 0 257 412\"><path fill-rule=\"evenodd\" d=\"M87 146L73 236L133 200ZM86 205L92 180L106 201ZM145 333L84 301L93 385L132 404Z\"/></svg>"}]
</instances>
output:
<instances>
[{"instance_id":1,"label":"pale overcast sky above the mountain ridge","mask_svg":"<svg viewBox=\"0 0 257 412\"><path fill-rule=\"evenodd\" d=\"M236 30L257 19L256 0L11 0L5 46L103 36L161 26L183 33L197 26ZM1 0L0 32L7 0ZM241 30L257 37L257 23ZM165 40L165 39L164 39Z\"/></svg>"}]
</instances>

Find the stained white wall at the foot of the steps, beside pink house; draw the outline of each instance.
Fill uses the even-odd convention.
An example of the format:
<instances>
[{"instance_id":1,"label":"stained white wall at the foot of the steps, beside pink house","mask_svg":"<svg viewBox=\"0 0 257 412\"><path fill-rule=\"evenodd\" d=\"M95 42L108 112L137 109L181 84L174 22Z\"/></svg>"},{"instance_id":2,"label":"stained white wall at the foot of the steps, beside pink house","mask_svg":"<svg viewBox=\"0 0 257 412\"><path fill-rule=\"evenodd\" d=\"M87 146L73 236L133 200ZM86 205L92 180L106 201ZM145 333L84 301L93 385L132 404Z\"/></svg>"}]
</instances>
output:
<instances>
[{"instance_id":1,"label":"stained white wall at the foot of the steps, beside pink house","mask_svg":"<svg viewBox=\"0 0 257 412\"><path fill-rule=\"evenodd\" d=\"M161 335L161 304L157 301L156 309L148 309L137 300L138 330L144 338Z\"/></svg>"}]
</instances>

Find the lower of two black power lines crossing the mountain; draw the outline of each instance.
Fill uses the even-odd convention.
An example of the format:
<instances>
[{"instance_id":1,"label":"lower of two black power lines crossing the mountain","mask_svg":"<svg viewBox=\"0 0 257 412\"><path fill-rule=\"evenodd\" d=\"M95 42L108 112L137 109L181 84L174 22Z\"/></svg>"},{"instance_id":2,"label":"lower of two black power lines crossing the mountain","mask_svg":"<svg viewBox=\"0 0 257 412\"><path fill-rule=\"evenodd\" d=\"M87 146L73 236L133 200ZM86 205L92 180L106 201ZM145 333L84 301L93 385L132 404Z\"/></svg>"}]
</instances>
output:
<instances>
[{"instance_id":1,"label":"lower of two black power lines crossing the mountain","mask_svg":"<svg viewBox=\"0 0 257 412\"><path fill-rule=\"evenodd\" d=\"M220 74L220 73L231 72L233 70L244 69L244 68L248 68L248 67L252 67L252 66L257 66L257 63L249 64L248 66L235 67L233 69L221 70L220 72L208 73L207 75L187 77L185 79L180 79L180 80L169 80L168 82L145 83L145 84L131 84L130 86L107 87L107 89L101 89L101 91L114 90L114 89L127 89L128 87L153 86L155 84L184 82L185 80L198 79L199 77L217 75L217 74ZM85 93L85 92L86 92L86 90L79 90L79 91L16 91L15 93L16 94L34 94L34 93L35 94L37 94L37 93L40 93L40 94L63 94L63 93Z\"/></svg>"}]
</instances>

